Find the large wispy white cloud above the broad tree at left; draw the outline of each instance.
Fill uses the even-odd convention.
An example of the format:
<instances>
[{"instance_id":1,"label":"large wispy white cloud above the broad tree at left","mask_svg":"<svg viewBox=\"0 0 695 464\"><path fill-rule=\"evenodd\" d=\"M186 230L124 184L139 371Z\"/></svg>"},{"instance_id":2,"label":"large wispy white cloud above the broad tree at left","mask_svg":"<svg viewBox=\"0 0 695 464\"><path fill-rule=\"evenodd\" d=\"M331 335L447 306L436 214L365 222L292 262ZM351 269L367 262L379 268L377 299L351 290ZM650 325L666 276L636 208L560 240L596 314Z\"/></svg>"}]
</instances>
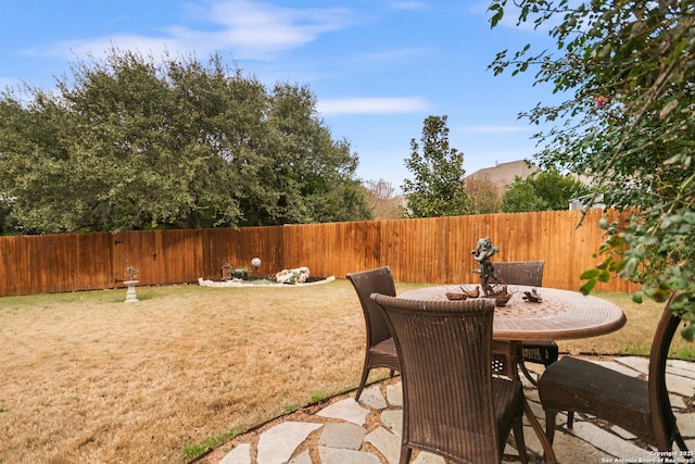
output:
<instances>
[{"instance_id":1,"label":"large wispy white cloud above the broad tree at left","mask_svg":"<svg viewBox=\"0 0 695 464\"><path fill-rule=\"evenodd\" d=\"M282 51L316 40L321 34L351 24L352 13L342 8L293 9L251 0L227 0L195 11L200 28L172 25L159 35L127 33L71 40L33 54L101 55L112 47L161 55L164 50L208 54L231 51L237 59L267 60Z\"/></svg>"}]
</instances>

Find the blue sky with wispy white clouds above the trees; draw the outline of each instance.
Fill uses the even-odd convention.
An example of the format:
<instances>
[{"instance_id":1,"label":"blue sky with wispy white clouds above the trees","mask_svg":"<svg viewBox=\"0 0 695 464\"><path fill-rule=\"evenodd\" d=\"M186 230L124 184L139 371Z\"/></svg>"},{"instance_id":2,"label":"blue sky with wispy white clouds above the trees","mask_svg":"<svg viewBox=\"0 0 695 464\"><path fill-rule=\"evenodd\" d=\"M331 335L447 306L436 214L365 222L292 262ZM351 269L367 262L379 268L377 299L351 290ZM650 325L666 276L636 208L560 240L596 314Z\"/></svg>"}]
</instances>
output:
<instances>
[{"instance_id":1,"label":"blue sky with wispy white clouds above the trees","mask_svg":"<svg viewBox=\"0 0 695 464\"><path fill-rule=\"evenodd\" d=\"M0 87L52 88L54 76L112 46L155 58L219 53L271 86L307 85L333 139L359 156L357 175L396 189L429 115L447 115L467 174L531 158L538 130L521 111L552 98L532 76L494 76L496 52L545 33L488 23L486 1L0 0ZM510 20L510 18L509 18Z\"/></svg>"}]
</instances>

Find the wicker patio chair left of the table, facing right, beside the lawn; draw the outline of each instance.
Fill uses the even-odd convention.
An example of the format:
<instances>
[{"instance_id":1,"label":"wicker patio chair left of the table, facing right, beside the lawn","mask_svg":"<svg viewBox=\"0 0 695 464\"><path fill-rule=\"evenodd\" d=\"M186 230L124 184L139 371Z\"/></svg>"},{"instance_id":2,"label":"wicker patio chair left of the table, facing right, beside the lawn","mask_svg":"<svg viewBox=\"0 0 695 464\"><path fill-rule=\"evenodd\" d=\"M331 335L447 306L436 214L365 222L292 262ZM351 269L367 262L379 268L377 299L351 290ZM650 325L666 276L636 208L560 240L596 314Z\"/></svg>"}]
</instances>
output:
<instances>
[{"instance_id":1,"label":"wicker patio chair left of the table, facing right, beside the lawn","mask_svg":"<svg viewBox=\"0 0 695 464\"><path fill-rule=\"evenodd\" d=\"M362 304L362 311L365 315L367 333L365 363L362 369L359 387L355 394L356 401L359 400L369 372L372 368L387 367L390 369L391 377L393 377L395 371L401 372L399 354L395 351L395 344L391 331L389 331L389 326L379 306L369 298L371 293L383 293L395 297L395 284L393 283L393 276L391 275L389 266L361 273L350 273L346 277L352 283L359 298L359 304Z\"/></svg>"}]
</instances>

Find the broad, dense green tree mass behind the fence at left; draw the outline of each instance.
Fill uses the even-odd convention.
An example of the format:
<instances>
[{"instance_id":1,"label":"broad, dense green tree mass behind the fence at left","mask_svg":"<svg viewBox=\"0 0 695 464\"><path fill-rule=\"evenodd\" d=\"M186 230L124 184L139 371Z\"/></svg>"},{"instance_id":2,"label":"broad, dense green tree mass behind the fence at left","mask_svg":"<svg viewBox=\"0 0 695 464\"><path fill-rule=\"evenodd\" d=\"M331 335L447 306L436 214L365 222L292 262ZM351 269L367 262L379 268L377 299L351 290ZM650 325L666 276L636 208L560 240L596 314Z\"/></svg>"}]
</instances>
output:
<instances>
[{"instance_id":1,"label":"broad, dense green tree mass behind the fence at left","mask_svg":"<svg viewBox=\"0 0 695 464\"><path fill-rule=\"evenodd\" d=\"M357 156L305 87L267 89L218 55L116 49L56 84L0 100L0 198L16 231L370 217Z\"/></svg>"}]
</instances>

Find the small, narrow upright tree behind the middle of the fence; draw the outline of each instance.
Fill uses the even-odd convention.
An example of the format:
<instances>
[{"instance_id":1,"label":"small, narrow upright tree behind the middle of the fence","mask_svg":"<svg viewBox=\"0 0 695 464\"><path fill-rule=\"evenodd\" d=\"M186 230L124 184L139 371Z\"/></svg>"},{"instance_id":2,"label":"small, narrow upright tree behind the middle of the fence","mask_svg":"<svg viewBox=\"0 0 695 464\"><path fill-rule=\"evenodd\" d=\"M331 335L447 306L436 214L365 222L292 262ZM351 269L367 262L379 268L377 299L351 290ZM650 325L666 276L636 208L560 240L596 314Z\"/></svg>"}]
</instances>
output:
<instances>
[{"instance_id":1,"label":"small, narrow upright tree behind the middle of the fence","mask_svg":"<svg viewBox=\"0 0 695 464\"><path fill-rule=\"evenodd\" d=\"M422 145L410 140L405 160L413 179L403 181L406 215L409 217L455 216L470 212L464 185L464 153L448 145L447 116L428 116L422 126Z\"/></svg>"}]
</instances>

